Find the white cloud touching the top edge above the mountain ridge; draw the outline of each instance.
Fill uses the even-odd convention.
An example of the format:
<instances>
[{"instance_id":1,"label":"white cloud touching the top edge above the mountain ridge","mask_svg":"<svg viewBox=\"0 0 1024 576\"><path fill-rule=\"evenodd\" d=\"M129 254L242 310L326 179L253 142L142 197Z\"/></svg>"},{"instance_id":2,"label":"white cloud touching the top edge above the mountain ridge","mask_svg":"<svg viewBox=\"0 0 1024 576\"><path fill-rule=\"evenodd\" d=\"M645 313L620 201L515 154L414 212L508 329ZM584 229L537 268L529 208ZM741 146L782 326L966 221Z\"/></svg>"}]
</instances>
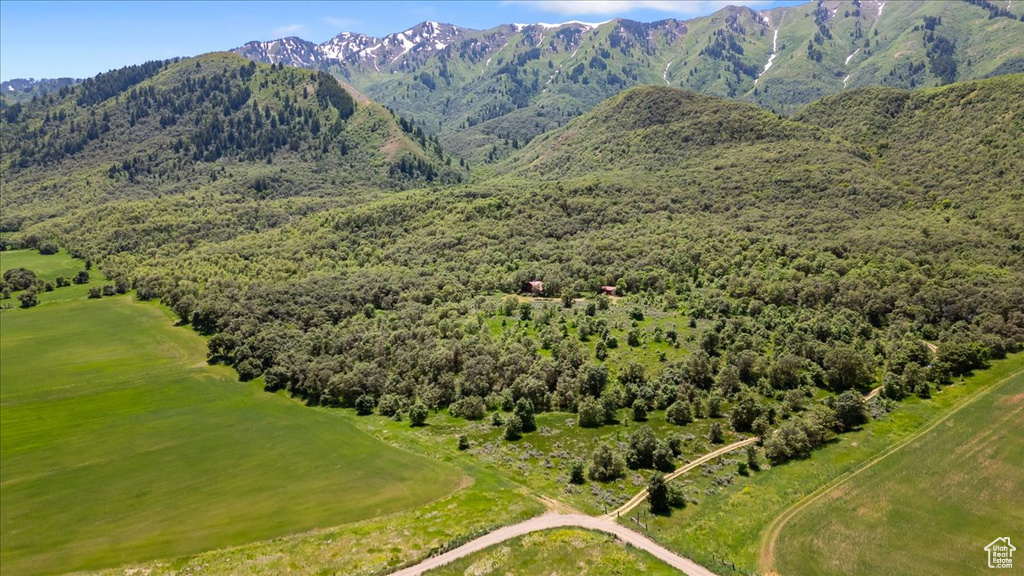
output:
<instances>
[{"instance_id":1,"label":"white cloud touching the top edge above the mountain ridge","mask_svg":"<svg viewBox=\"0 0 1024 576\"><path fill-rule=\"evenodd\" d=\"M505 4L523 4L545 12L563 15L622 15L633 10L657 10L680 16L710 14L728 5L752 8L770 4L769 0L505 0Z\"/></svg>"}]
</instances>

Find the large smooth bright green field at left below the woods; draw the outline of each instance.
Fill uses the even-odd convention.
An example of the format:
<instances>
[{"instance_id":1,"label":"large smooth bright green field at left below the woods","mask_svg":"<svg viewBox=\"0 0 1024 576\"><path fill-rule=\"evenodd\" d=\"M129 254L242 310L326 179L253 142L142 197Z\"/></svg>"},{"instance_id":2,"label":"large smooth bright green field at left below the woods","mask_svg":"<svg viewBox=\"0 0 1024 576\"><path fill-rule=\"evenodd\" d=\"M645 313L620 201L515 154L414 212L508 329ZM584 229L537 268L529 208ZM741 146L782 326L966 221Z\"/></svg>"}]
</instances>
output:
<instances>
[{"instance_id":1,"label":"large smooth bright green field at left below the woods","mask_svg":"<svg viewBox=\"0 0 1024 576\"><path fill-rule=\"evenodd\" d=\"M2 257L4 268L16 261L51 280L36 258L71 261ZM337 526L434 500L461 483L454 466L208 366L203 338L174 327L158 304L60 298L82 288L0 313L4 574L178 557Z\"/></svg>"}]
</instances>

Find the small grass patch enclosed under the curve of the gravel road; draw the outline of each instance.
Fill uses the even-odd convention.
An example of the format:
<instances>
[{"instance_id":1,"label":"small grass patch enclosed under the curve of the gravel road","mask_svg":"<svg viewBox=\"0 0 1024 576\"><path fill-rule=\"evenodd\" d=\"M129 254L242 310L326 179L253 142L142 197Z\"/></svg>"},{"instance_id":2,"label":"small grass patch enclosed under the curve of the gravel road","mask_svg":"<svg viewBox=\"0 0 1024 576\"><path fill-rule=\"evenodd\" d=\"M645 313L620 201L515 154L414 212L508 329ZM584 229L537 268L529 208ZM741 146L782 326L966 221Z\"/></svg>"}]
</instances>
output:
<instances>
[{"instance_id":1,"label":"small grass patch enclosed under the curve of the gravel road","mask_svg":"<svg viewBox=\"0 0 1024 576\"><path fill-rule=\"evenodd\" d=\"M579 529L535 532L427 572L429 576L571 574L676 576L679 571L613 536Z\"/></svg>"}]
</instances>

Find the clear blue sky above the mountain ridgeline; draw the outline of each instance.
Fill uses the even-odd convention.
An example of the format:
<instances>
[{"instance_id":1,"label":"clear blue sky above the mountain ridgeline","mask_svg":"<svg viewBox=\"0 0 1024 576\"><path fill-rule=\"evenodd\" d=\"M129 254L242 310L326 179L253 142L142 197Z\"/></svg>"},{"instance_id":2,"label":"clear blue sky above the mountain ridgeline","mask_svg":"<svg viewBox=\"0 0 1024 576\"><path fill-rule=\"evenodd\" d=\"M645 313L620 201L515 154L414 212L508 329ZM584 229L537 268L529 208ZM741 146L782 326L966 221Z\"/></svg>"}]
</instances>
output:
<instances>
[{"instance_id":1,"label":"clear blue sky above the mountain ridgeline","mask_svg":"<svg viewBox=\"0 0 1024 576\"><path fill-rule=\"evenodd\" d=\"M426 20L487 29L506 23L687 18L727 4L795 0L542 2L27 2L0 1L0 79L85 78L150 59L226 50L250 40L340 32L384 36Z\"/></svg>"}]
</instances>

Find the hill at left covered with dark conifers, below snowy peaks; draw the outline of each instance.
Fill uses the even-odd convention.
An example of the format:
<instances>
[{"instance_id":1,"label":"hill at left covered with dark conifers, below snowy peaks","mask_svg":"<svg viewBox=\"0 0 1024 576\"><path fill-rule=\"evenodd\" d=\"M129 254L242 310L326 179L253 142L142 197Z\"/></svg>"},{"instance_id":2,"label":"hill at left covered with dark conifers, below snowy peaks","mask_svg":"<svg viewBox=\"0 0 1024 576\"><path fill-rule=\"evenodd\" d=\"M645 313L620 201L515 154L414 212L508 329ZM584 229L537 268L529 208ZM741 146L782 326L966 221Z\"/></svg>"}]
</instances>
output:
<instances>
[{"instance_id":1,"label":"hill at left covered with dark conifers, below snowy peaks","mask_svg":"<svg viewBox=\"0 0 1024 576\"><path fill-rule=\"evenodd\" d=\"M128 218L89 231L109 252L224 239L464 174L436 138L333 77L233 54L101 74L2 122L2 230L83 210Z\"/></svg>"}]
</instances>

